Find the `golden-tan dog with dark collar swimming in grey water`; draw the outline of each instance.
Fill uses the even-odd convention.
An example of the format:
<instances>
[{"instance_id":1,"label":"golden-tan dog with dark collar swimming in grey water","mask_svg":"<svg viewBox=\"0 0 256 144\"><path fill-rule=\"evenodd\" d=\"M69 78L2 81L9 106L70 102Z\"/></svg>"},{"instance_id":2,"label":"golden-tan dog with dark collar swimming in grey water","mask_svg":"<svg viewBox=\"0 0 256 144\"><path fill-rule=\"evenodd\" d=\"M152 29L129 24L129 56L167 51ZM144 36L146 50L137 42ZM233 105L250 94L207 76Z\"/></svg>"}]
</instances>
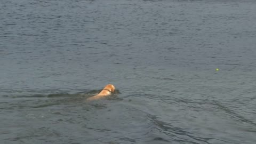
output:
<instances>
[{"instance_id":1,"label":"golden-tan dog with dark collar swimming in grey water","mask_svg":"<svg viewBox=\"0 0 256 144\"><path fill-rule=\"evenodd\" d=\"M93 97L87 98L86 100L98 100L101 98L104 98L110 94L112 94L115 91L115 86L113 84L108 84L104 87L104 89L98 93L97 95L94 95Z\"/></svg>"}]
</instances>

